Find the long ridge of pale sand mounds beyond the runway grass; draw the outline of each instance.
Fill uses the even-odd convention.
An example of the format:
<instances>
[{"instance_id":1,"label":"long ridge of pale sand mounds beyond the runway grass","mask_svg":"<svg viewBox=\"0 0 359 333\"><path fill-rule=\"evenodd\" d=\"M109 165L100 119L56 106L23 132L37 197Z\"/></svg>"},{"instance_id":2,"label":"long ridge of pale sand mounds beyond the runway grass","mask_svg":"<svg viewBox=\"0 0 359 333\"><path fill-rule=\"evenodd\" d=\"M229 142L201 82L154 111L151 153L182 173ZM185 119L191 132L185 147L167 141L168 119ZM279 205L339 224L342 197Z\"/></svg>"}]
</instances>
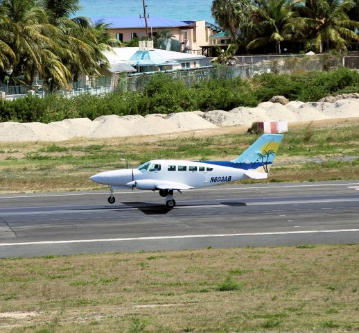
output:
<instances>
[{"instance_id":1,"label":"long ridge of pale sand mounds beyond the runway grass","mask_svg":"<svg viewBox=\"0 0 359 333\"><path fill-rule=\"evenodd\" d=\"M264 102L256 108L238 107L227 112L213 110L175 114L148 114L119 117L101 116L44 123L0 123L0 141L63 141L73 137L124 137L155 135L217 126L250 126L254 121L313 121L359 117L359 99L340 99L335 103L291 101L286 105Z\"/></svg>"}]
</instances>

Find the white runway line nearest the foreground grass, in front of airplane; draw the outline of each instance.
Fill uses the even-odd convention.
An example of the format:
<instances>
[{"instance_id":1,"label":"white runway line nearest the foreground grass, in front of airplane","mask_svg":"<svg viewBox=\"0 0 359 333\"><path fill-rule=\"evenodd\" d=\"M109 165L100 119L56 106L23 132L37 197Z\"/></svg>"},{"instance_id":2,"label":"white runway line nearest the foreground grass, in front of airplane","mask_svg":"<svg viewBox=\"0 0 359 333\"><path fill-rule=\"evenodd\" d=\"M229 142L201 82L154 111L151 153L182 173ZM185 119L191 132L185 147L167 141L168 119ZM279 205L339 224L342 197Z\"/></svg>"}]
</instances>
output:
<instances>
[{"instance_id":1,"label":"white runway line nearest the foreground grass, in front of airplane","mask_svg":"<svg viewBox=\"0 0 359 333\"><path fill-rule=\"evenodd\" d=\"M319 234L324 232L358 232L359 229L338 229L338 230L299 230L299 231L277 231L277 232L253 232L240 234L185 234L182 236L154 236L154 237L130 237L110 239L74 239L68 241L28 241L23 243L1 243L0 246L19 245L41 245L41 244L72 244L72 243L98 243L106 241L151 241L156 239L189 239L208 237L238 237L238 236L268 236L273 234Z\"/></svg>"}]
</instances>

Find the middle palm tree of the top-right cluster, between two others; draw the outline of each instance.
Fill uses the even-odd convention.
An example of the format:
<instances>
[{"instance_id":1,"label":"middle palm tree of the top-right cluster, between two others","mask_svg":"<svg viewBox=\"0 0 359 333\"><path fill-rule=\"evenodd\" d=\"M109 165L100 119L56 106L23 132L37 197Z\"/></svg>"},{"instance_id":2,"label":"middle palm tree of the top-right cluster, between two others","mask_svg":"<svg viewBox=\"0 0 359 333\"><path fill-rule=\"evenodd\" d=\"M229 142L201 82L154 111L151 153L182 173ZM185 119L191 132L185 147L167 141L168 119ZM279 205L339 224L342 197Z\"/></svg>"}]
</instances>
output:
<instances>
[{"instance_id":1,"label":"middle palm tree of the top-right cluster, between two others","mask_svg":"<svg viewBox=\"0 0 359 333\"><path fill-rule=\"evenodd\" d=\"M277 53L281 53L281 42L290 40L295 31L293 17L296 13L290 9L288 0L258 0L256 3L253 30L258 37L247 44L247 49L273 42Z\"/></svg>"}]
</instances>

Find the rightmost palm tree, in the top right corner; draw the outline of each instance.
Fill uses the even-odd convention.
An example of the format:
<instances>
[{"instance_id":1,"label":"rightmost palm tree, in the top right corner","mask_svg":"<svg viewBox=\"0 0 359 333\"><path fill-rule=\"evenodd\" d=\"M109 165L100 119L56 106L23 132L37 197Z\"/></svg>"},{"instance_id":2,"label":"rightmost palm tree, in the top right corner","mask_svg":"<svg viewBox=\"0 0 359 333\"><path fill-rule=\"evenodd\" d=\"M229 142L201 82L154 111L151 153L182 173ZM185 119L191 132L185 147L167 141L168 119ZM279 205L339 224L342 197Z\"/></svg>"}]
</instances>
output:
<instances>
[{"instance_id":1,"label":"rightmost palm tree, in the top right corner","mask_svg":"<svg viewBox=\"0 0 359 333\"><path fill-rule=\"evenodd\" d=\"M350 19L348 12L356 8L352 0L295 0L295 8L301 15L297 19L313 40L317 50L347 50L350 40L359 41L355 28L359 22Z\"/></svg>"}]
</instances>

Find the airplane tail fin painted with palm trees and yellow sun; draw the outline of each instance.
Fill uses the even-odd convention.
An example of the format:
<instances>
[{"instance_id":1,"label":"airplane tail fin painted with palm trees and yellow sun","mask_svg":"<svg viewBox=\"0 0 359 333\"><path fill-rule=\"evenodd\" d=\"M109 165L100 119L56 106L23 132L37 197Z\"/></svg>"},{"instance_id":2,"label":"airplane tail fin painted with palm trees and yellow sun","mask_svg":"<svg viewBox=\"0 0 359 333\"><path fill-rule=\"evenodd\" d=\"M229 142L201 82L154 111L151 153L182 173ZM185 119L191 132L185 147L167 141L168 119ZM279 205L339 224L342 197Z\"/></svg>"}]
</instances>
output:
<instances>
[{"instance_id":1,"label":"airplane tail fin painted with palm trees and yellow sun","mask_svg":"<svg viewBox=\"0 0 359 333\"><path fill-rule=\"evenodd\" d=\"M248 169L256 171L256 173L268 173L277 155L282 139L283 134L263 134L254 144L249 146L242 155L231 162L245 163L248 165ZM249 177L252 178L251 176Z\"/></svg>"}]
</instances>

